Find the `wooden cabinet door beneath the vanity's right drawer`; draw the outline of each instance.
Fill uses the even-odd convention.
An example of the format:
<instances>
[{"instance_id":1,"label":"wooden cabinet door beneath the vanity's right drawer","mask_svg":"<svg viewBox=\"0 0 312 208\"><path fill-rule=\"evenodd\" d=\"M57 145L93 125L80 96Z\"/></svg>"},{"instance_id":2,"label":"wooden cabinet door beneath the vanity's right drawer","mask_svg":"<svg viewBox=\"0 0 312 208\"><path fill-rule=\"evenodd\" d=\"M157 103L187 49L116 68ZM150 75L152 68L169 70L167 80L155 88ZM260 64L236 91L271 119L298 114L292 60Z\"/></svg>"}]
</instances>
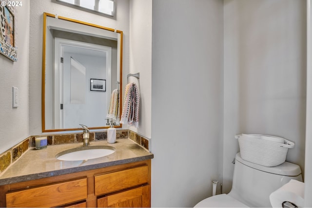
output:
<instances>
[{"instance_id":1,"label":"wooden cabinet door beneath the vanity's right drawer","mask_svg":"<svg viewBox=\"0 0 312 208\"><path fill-rule=\"evenodd\" d=\"M99 208L151 207L150 185L110 194L98 199Z\"/></svg>"}]
</instances>

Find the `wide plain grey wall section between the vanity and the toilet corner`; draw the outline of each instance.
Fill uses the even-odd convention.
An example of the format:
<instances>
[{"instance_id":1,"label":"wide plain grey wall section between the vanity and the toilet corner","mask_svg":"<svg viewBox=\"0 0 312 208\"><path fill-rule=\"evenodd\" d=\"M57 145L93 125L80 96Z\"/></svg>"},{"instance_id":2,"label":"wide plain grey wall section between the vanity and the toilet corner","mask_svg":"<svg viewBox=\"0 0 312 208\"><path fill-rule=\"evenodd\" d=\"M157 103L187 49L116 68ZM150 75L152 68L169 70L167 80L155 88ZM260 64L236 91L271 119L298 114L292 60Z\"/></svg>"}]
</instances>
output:
<instances>
[{"instance_id":1,"label":"wide plain grey wall section between the vanity and the toilet corner","mask_svg":"<svg viewBox=\"0 0 312 208\"><path fill-rule=\"evenodd\" d=\"M222 175L223 1L152 10L152 207L193 207Z\"/></svg>"}]
</instances>

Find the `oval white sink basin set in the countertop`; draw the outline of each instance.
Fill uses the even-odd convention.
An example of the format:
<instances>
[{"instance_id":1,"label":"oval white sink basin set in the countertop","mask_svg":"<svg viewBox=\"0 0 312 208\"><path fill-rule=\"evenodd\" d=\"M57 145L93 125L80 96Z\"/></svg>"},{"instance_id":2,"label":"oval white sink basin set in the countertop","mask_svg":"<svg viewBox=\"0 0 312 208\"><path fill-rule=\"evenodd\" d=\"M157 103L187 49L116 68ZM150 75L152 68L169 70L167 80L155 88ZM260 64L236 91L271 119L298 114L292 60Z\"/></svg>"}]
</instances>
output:
<instances>
[{"instance_id":1,"label":"oval white sink basin set in the countertop","mask_svg":"<svg viewBox=\"0 0 312 208\"><path fill-rule=\"evenodd\" d=\"M115 152L111 146L88 146L79 147L59 152L55 157L58 160L78 161L104 157Z\"/></svg>"}]
</instances>

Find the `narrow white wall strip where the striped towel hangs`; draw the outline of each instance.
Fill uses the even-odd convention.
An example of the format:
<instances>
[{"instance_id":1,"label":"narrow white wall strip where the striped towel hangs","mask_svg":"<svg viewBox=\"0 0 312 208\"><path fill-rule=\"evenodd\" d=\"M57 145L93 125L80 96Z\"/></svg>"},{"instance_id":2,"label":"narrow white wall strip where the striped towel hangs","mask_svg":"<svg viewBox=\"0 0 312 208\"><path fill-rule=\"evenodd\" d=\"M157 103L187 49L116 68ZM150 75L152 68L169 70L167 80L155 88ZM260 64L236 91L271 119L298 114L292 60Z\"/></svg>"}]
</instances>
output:
<instances>
[{"instance_id":1,"label":"narrow white wall strip where the striped towel hangs","mask_svg":"<svg viewBox=\"0 0 312 208\"><path fill-rule=\"evenodd\" d=\"M140 78L129 77L140 91L139 126L134 132L151 138L152 101L152 0L130 0L130 73L140 73Z\"/></svg>"}]
</instances>

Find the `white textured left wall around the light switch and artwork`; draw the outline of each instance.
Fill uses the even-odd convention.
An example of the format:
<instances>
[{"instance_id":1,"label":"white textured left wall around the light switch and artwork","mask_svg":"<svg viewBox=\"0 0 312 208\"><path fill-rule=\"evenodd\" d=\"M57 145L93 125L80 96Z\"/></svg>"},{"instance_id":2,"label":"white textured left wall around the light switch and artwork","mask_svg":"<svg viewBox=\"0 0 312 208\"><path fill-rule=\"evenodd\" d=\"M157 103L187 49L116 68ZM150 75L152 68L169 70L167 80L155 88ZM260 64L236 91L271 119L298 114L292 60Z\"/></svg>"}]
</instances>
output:
<instances>
[{"instance_id":1,"label":"white textured left wall around the light switch and artwork","mask_svg":"<svg viewBox=\"0 0 312 208\"><path fill-rule=\"evenodd\" d=\"M29 1L16 10L18 61L0 55L0 154L28 136ZM12 108L12 86L19 88L18 108Z\"/></svg>"}]
</instances>

